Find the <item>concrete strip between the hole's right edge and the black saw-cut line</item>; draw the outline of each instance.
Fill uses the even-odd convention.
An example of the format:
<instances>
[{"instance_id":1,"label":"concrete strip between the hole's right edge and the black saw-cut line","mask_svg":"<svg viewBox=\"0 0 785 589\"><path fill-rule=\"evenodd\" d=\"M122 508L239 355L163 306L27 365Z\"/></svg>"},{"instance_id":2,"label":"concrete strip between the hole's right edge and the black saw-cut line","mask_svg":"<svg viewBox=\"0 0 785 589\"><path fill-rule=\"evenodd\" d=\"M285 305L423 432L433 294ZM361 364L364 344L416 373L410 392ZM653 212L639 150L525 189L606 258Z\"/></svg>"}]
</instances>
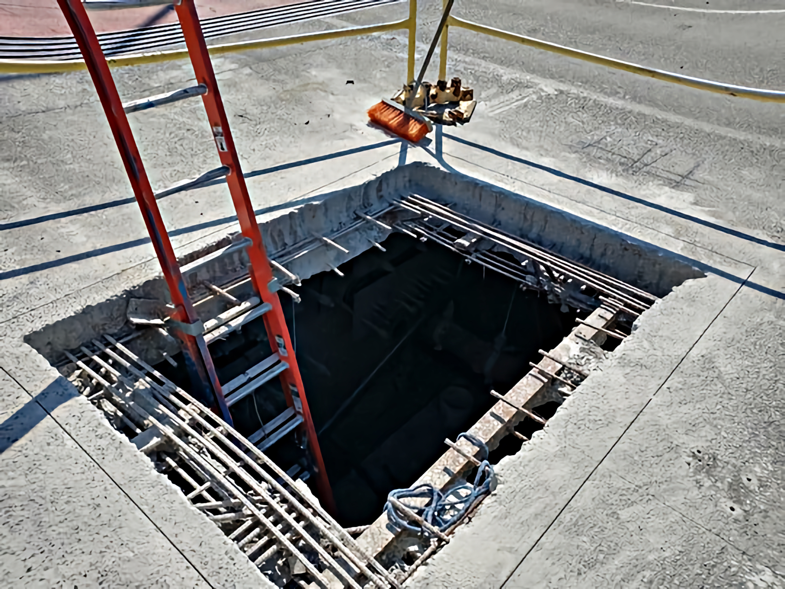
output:
<instances>
[{"instance_id":1,"label":"concrete strip between the hole's right edge and the black saw-cut line","mask_svg":"<svg viewBox=\"0 0 785 589\"><path fill-rule=\"evenodd\" d=\"M466 587L501 587L738 290L708 276L677 287L644 313L546 428L502 459L494 496L411 585L454 587L463 578Z\"/></svg>"}]
</instances>

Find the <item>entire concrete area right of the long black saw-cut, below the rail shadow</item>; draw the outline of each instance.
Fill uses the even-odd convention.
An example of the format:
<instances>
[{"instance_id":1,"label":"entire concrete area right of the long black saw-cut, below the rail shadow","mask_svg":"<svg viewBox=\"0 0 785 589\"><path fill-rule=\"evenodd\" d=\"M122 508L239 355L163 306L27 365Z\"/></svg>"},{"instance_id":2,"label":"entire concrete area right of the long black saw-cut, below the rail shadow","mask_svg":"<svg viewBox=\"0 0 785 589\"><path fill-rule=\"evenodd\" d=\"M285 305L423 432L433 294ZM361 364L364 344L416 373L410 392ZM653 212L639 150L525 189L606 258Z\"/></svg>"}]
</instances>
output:
<instances>
[{"instance_id":1,"label":"entire concrete area right of the long black saw-cut, below the rail shadow","mask_svg":"<svg viewBox=\"0 0 785 589\"><path fill-rule=\"evenodd\" d=\"M785 586L782 312L742 287L506 586Z\"/></svg>"}]
</instances>

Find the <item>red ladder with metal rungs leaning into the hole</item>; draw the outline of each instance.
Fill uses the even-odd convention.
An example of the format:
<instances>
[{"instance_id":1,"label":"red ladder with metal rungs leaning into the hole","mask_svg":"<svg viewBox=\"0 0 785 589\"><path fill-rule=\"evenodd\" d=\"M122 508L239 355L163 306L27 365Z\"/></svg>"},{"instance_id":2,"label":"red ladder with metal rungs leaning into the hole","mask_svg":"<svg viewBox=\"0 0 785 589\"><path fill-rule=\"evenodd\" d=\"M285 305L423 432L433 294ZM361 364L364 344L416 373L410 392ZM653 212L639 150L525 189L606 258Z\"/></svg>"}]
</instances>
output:
<instances>
[{"instance_id":1,"label":"red ladder with metal rungs leaning into the hole","mask_svg":"<svg viewBox=\"0 0 785 589\"><path fill-rule=\"evenodd\" d=\"M161 214L156 203L156 193L153 192L147 173L144 170L136 141L134 141L126 112L135 112L153 108L159 104L168 104L174 101L186 100L192 97L202 97L206 110L207 118L210 122L218 156L221 159L221 166L215 170L210 170L192 181L186 181L176 185L162 194L173 194L199 185L214 181L217 177L225 177L229 192L232 195L240 229L245 237L244 244L250 259L250 278L254 284L254 290L258 298L265 304L263 318L265 328L272 348L272 353L276 354L281 363L278 376L283 388L283 394L287 399L287 404L301 418L298 429L307 438L309 451L312 456L312 463L316 470L316 484L319 489L320 499L328 510L334 512L334 502L330 483L327 479L327 472L324 468L319 441L316 438L316 430L313 426L308 401L305 398L305 390L302 384L297 360L294 358L289 331L286 320L283 317L283 310L279 302L279 290L277 282L273 280L272 269L268 263L264 244L261 242L261 232L257 225L254 207L251 205L248 196L248 188L245 184L243 171L240 168L237 151L232 133L229 130L228 119L224 111L221 95L218 92L217 81L207 53L207 46L204 40L202 27L199 24L199 16L196 14L194 0L181 0L175 2L175 11L185 38L185 45L188 55L194 68L197 86L186 88L166 95L150 97L142 101L134 101L122 104L119 93L115 86L114 79L111 77L109 67L100 48L98 38L93 25L90 23L84 5L81 0L57 0L60 9L71 27L82 56L85 59L90 76L96 86L100 102L104 107L111 132L115 137L115 142L119 148L122 163L126 166L133 194L136 196L137 203L141 208L144 223L147 225L150 238L155 247L155 254L158 256L166 285L169 287L172 305L172 323L175 326L178 337L181 340L181 347L185 357L188 371L191 375L192 386L196 388L195 396L203 401L208 407L221 412L227 423L232 423L232 415L229 411L228 403L225 400L218 381L213 360L210 357L210 350L204 337L204 327L196 315L194 305L188 296L177 257L174 254L166 226L163 224ZM162 3L156 0L155 3ZM144 2L117 3L118 8L131 8L143 5Z\"/></svg>"}]
</instances>

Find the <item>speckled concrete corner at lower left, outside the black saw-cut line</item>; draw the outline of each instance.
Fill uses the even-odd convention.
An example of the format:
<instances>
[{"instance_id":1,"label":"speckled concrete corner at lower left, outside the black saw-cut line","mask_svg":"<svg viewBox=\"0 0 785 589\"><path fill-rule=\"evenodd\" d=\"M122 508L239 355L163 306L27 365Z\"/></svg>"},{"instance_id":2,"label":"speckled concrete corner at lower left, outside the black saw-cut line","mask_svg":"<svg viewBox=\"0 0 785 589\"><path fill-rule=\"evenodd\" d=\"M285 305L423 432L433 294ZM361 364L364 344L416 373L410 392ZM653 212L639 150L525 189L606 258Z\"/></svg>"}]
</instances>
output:
<instances>
[{"instance_id":1,"label":"speckled concrete corner at lower left, outside the black saw-cut line","mask_svg":"<svg viewBox=\"0 0 785 589\"><path fill-rule=\"evenodd\" d=\"M211 587L38 402L0 371L0 584Z\"/></svg>"}]
</instances>

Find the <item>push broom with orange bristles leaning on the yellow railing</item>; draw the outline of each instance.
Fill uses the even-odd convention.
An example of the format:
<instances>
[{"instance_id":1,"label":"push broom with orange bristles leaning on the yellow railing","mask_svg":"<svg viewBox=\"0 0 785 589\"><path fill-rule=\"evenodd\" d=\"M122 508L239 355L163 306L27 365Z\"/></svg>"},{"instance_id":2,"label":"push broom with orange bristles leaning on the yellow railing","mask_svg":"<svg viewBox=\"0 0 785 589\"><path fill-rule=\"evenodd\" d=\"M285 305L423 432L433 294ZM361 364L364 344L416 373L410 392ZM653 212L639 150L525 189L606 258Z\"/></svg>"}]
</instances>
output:
<instances>
[{"instance_id":1,"label":"push broom with orange bristles leaning on the yellow railing","mask_svg":"<svg viewBox=\"0 0 785 589\"><path fill-rule=\"evenodd\" d=\"M382 102L374 104L368 109L368 117L373 123L383 126L391 133L408 139L412 143L417 143L433 130L433 123L425 115L411 108L411 105L414 103L414 97L417 96L420 86L422 86L422 78L425 76L425 70L428 69L428 64L431 62L436 43L439 42L441 31L444 30L444 24L447 23L447 17L450 16L453 2L455 0L447 0L447 5L444 6L444 13L442 14L439 28L436 29L436 36L431 42L428 55L425 56L425 61L422 64L420 75L417 76L417 80L414 82L414 87L411 89L411 93L409 93L409 99L406 101L406 104L398 104L395 101L382 98ZM414 39L411 39L410 42L414 42ZM425 104L428 104L427 97L425 98Z\"/></svg>"}]
</instances>

